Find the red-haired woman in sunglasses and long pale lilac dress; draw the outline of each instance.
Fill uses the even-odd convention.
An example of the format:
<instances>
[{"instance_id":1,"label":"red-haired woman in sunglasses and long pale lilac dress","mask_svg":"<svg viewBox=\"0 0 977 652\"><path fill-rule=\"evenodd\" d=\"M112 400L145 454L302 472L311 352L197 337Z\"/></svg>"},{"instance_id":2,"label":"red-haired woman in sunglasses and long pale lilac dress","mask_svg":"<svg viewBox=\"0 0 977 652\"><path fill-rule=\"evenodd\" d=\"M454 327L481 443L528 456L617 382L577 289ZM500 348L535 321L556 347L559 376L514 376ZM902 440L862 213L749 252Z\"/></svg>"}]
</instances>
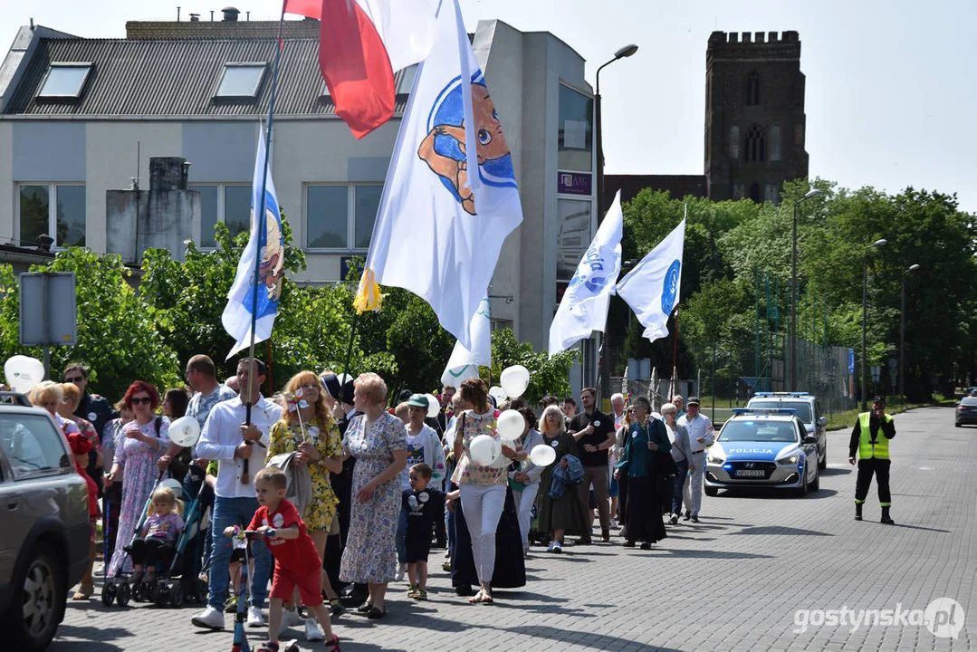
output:
<instances>
[{"instance_id":1,"label":"red-haired woman in sunglasses and long pale lilac dress","mask_svg":"<svg viewBox=\"0 0 977 652\"><path fill-rule=\"evenodd\" d=\"M122 426L122 440L115 446L115 461L106 475L106 489L111 487L116 474L125 473L125 491L119 507L119 526L115 533L115 551L108 565L108 575L114 577L121 568L131 572L132 562L122 546L132 540L146 501L156 484L159 471L156 461L170 443L170 419L155 416L159 405L159 392L150 383L137 380L125 392L126 407L135 415ZM125 566L123 566L125 562Z\"/></svg>"}]
</instances>

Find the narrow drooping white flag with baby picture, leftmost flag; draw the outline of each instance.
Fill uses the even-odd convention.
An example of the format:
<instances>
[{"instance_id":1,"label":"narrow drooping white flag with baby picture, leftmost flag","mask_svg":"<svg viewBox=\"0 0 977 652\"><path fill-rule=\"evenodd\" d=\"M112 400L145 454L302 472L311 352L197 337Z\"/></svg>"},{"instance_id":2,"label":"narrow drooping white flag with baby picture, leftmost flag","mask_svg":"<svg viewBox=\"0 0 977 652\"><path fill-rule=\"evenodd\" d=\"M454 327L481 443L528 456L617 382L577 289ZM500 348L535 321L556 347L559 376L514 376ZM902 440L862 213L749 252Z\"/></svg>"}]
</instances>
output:
<instances>
[{"instance_id":1,"label":"narrow drooping white flag with baby picture, leftmost flag","mask_svg":"<svg viewBox=\"0 0 977 652\"><path fill-rule=\"evenodd\" d=\"M261 188L265 181L264 129L259 129L258 155L254 162L254 178L251 182L251 237L237 263L234 284L228 292L228 305L221 322L228 334L234 337L234 347L228 359L251 345L251 325L254 324L254 341L260 342L272 336L272 326L278 311L281 283L284 277L285 242L281 235L281 212L275 184L272 182L272 166L268 165L268 181L265 189L264 219L255 219L261 213ZM257 308L255 308L255 262L258 262Z\"/></svg>"}]
</instances>

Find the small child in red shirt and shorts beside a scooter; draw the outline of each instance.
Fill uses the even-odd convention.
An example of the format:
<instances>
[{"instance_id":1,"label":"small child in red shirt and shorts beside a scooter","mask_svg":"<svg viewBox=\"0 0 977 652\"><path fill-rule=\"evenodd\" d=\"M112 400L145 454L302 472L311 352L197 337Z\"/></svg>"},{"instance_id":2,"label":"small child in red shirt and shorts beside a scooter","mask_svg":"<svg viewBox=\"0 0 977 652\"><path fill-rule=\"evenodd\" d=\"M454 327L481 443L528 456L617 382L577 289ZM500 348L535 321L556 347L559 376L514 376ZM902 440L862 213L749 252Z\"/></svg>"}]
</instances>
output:
<instances>
[{"instance_id":1,"label":"small child in red shirt and shorts beside a scooter","mask_svg":"<svg viewBox=\"0 0 977 652\"><path fill-rule=\"evenodd\" d=\"M322 560L295 505L285 499L286 485L285 474L271 466L261 469L254 478L254 491L261 506L247 529L267 537L266 543L275 557L275 580L268 609L269 640L259 650L277 652L282 605L298 587L302 603L315 612L325 633L326 649L338 652L339 638L332 633L329 612L322 601L319 578ZM233 534L234 528L225 530L225 535Z\"/></svg>"}]
</instances>

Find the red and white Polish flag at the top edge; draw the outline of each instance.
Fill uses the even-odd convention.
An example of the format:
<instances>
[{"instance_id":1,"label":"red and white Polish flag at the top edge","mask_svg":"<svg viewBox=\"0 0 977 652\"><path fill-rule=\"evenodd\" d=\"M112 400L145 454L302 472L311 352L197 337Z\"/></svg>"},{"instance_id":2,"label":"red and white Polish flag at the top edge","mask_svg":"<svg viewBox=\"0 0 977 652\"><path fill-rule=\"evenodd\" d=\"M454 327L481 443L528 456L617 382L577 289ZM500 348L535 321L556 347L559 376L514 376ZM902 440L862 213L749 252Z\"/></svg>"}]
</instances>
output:
<instances>
[{"instance_id":1,"label":"red and white Polish flag at the top edge","mask_svg":"<svg viewBox=\"0 0 977 652\"><path fill-rule=\"evenodd\" d=\"M358 139L394 114L394 71L431 51L431 0L285 0L319 20L319 68L336 114Z\"/></svg>"}]
</instances>

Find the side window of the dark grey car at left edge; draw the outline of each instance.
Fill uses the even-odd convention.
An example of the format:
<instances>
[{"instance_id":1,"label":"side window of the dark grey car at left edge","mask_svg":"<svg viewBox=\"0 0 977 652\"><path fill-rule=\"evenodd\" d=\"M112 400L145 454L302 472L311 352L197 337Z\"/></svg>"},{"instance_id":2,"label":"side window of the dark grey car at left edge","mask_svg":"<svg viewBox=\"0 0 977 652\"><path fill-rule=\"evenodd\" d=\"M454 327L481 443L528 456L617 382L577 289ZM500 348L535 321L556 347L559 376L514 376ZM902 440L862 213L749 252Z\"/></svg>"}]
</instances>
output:
<instances>
[{"instance_id":1,"label":"side window of the dark grey car at left edge","mask_svg":"<svg viewBox=\"0 0 977 652\"><path fill-rule=\"evenodd\" d=\"M45 414L0 413L0 450L15 480L72 468L64 436Z\"/></svg>"}]
</instances>

